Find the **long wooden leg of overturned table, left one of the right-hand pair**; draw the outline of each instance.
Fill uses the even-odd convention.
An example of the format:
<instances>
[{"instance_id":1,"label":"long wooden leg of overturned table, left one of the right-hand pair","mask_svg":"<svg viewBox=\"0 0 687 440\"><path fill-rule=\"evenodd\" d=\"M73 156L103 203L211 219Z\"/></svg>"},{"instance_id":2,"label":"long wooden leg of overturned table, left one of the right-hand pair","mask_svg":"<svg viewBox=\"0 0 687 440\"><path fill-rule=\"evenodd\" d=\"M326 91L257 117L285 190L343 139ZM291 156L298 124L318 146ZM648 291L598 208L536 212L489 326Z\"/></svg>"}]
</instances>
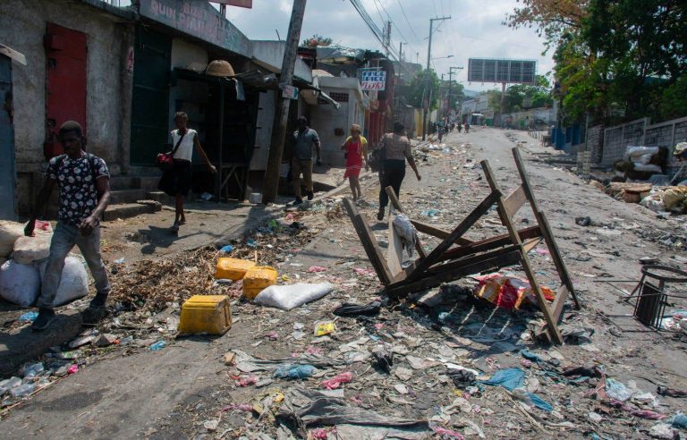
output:
<instances>
[{"instance_id":1,"label":"long wooden leg of overturned table, left one of the right-hand pair","mask_svg":"<svg viewBox=\"0 0 687 440\"><path fill-rule=\"evenodd\" d=\"M499 189L498 183L496 182L496 179L494 178L494 173L491 171L491 166L489 165L488 161L483 160L481 162L481 165L482 165L482 169L484 170L484 173L487 177L487 182L489 183L489 187L491 188L491 190L500 194L500 189ZM522 182L522 187L524 190L527 190L527 188L525 188L524 182ZM534 292L535 296L537 297L539 309L544 314L544 319L547 321L548 333L551 334L551 339L555 343L562 344L563 343L563 336L561 336L561 332L558 330L558 326L556 325L556 319L551 314L551 309L548 308L547 299L544 297L544 292L541 291L541 286L539 286L539 282L537 281L537 277L534 274L534 270L530 266L530 258L527 257L527 252L525 252L525 250L522 249L522 241L520 240L520 235L518 234L518 230L515 228L515 225L513 224L511 217L508 216L508 213L505 211L504 199L505 198L503 196L500 196L496 199L496 205L498 207L498 215L501 217L501 220L504 222L504 225L505 225L506 229L508 230L508 234L511 236L511 240L513 241L513 244L521 247L522 271L525 273L525 275L527 275L527 279L530 281L530 287L532 288L532 291Z\"/></svg>"}]
</instances>

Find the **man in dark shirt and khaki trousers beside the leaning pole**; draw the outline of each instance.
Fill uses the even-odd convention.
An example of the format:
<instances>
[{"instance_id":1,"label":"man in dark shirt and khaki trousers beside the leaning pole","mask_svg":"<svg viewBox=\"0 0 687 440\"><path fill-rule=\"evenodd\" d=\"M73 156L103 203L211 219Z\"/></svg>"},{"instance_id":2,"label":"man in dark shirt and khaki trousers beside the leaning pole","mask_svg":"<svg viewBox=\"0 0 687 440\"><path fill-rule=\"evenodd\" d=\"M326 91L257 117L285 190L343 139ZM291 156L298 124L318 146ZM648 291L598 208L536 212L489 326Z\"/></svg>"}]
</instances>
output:
<instances>
[{"instance_id":1,"label":"man in dark shirt and khaki trousers beside the leaning pole","mask_svg":"<svg viewBox=\"0 0 687 440\"><path fill-rule=\"evenodd\" d=\"M303 199L301 198L301 173L305 181L305 188L308 191L307 196L312 200L314 193L312 191L312 147L318 154L317 165L322 165L320 160L320 148L318 132L308 127L308 120L301 116L298 118L298 130L293 132L294 151L291 159L291 170L293 178L293 193L296 200L293 205L301 205Z\"/></svg>"}]
</instances>

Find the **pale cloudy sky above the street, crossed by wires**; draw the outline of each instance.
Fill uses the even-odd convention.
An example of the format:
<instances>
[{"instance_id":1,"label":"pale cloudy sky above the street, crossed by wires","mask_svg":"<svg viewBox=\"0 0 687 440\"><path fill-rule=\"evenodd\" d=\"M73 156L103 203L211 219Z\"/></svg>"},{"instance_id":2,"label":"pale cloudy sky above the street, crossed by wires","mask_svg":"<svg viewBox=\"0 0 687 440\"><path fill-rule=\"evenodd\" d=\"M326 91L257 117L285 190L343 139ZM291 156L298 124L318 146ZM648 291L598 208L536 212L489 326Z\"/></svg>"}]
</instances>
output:
<instances>
[{"instance_id":1,"label":"pale cloudy sky above the street, crossed by wires","mask_svg":"<svg viewBox=\"0 0 687 440\"><path fill-rule=\"evenodd\" d=\"M435 21L432 42L432 68L448 78L449 68L464 67L458 74L465 89L485 90L500 85L468 83L468 58L523 58L538 61L537 73L552 70L550 55L542 55L543 41L534 30L512 30L502 22L513 11L516 0L360 0L377 24L391 18L392 47L398 51L403 41L406 61L427 63L429 19L450 16L451 20ZM227 18L250 39L285 38L293 0L253 0L252 9L227 6ZM384 19L384 20L383 20ZM381 43L374 37L349 0L310 0L306 5L301 41L314 34L332 38L345 47L377 49ZM453 55L450 58L445 58ZM454 72L456 72L454 70Z\"/></svg>"}]
</instances>

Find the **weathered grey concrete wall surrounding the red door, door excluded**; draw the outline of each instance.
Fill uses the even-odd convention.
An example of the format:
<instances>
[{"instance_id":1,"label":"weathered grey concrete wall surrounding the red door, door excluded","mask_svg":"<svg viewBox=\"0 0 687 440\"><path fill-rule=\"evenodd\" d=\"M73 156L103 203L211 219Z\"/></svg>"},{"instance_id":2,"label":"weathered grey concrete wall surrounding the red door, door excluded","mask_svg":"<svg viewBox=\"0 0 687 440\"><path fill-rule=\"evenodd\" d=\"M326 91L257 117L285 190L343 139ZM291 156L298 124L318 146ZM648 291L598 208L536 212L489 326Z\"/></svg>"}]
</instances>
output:
<instances>
[{"instance_id":1,"label":"weathered grey concrete wall surrounding the red door, door excluded","mask_svg":"<svg viewBox=\"0 0 687 440\"><path fill-rule=\"evenodd\" d=\"M120 20L121 21L121 20ZM3 0L0 2L0 41L26 55L27 65L13 68L14 133L17 162L18 210L29 210L30 195L42 181L43 142L46 140L47 22L87 35L87 102L89 151L106 159L119 173L123 140L123 66L133 46L130 23L116 23L85 4L64 0ZM130 44L131 42L131 44ZM126 93L126 92L125 92ZM128 93L131 93L129 90ZM125 135L125 136L124 136ZM128 153L127 153L128 154Z\"/></svg>"}]
</instances>

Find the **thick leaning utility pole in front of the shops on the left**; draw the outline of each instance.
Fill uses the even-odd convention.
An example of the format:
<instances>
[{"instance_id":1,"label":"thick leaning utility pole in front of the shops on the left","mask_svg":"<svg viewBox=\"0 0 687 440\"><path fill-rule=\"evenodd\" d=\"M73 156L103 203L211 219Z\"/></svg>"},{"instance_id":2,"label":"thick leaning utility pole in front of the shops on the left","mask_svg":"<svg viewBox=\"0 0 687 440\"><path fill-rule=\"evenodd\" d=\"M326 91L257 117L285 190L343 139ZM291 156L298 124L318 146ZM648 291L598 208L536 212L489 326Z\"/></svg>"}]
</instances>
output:
<instances>
[{"instance_id":1,"label":"thick leaning utility pole in front of the shops on the left","mask_svg":"<svg viewBox=\"0 0 687 440\"><path fill-rule=\"evenodd\" d=\"M301 27L303 25L306 1L293 0L289 34L286 36L286 46L284 47L282 72L279 75L280 85L283 86L290 86L293 80L293 70L295 69L296 56L298 56L296 52L301 39ZM270 142L265 182L263 182L262 189L262 202L266 205L276 200L276 193L279 188L279 171L282 167L282 156L284 154L286 125L289 120L289 107L291 106L291 98L281 97L280 90L277 90L276 94L278 105L275 106L275 122L272 126L272 141Z\"/></svg>"}]
</instances>

